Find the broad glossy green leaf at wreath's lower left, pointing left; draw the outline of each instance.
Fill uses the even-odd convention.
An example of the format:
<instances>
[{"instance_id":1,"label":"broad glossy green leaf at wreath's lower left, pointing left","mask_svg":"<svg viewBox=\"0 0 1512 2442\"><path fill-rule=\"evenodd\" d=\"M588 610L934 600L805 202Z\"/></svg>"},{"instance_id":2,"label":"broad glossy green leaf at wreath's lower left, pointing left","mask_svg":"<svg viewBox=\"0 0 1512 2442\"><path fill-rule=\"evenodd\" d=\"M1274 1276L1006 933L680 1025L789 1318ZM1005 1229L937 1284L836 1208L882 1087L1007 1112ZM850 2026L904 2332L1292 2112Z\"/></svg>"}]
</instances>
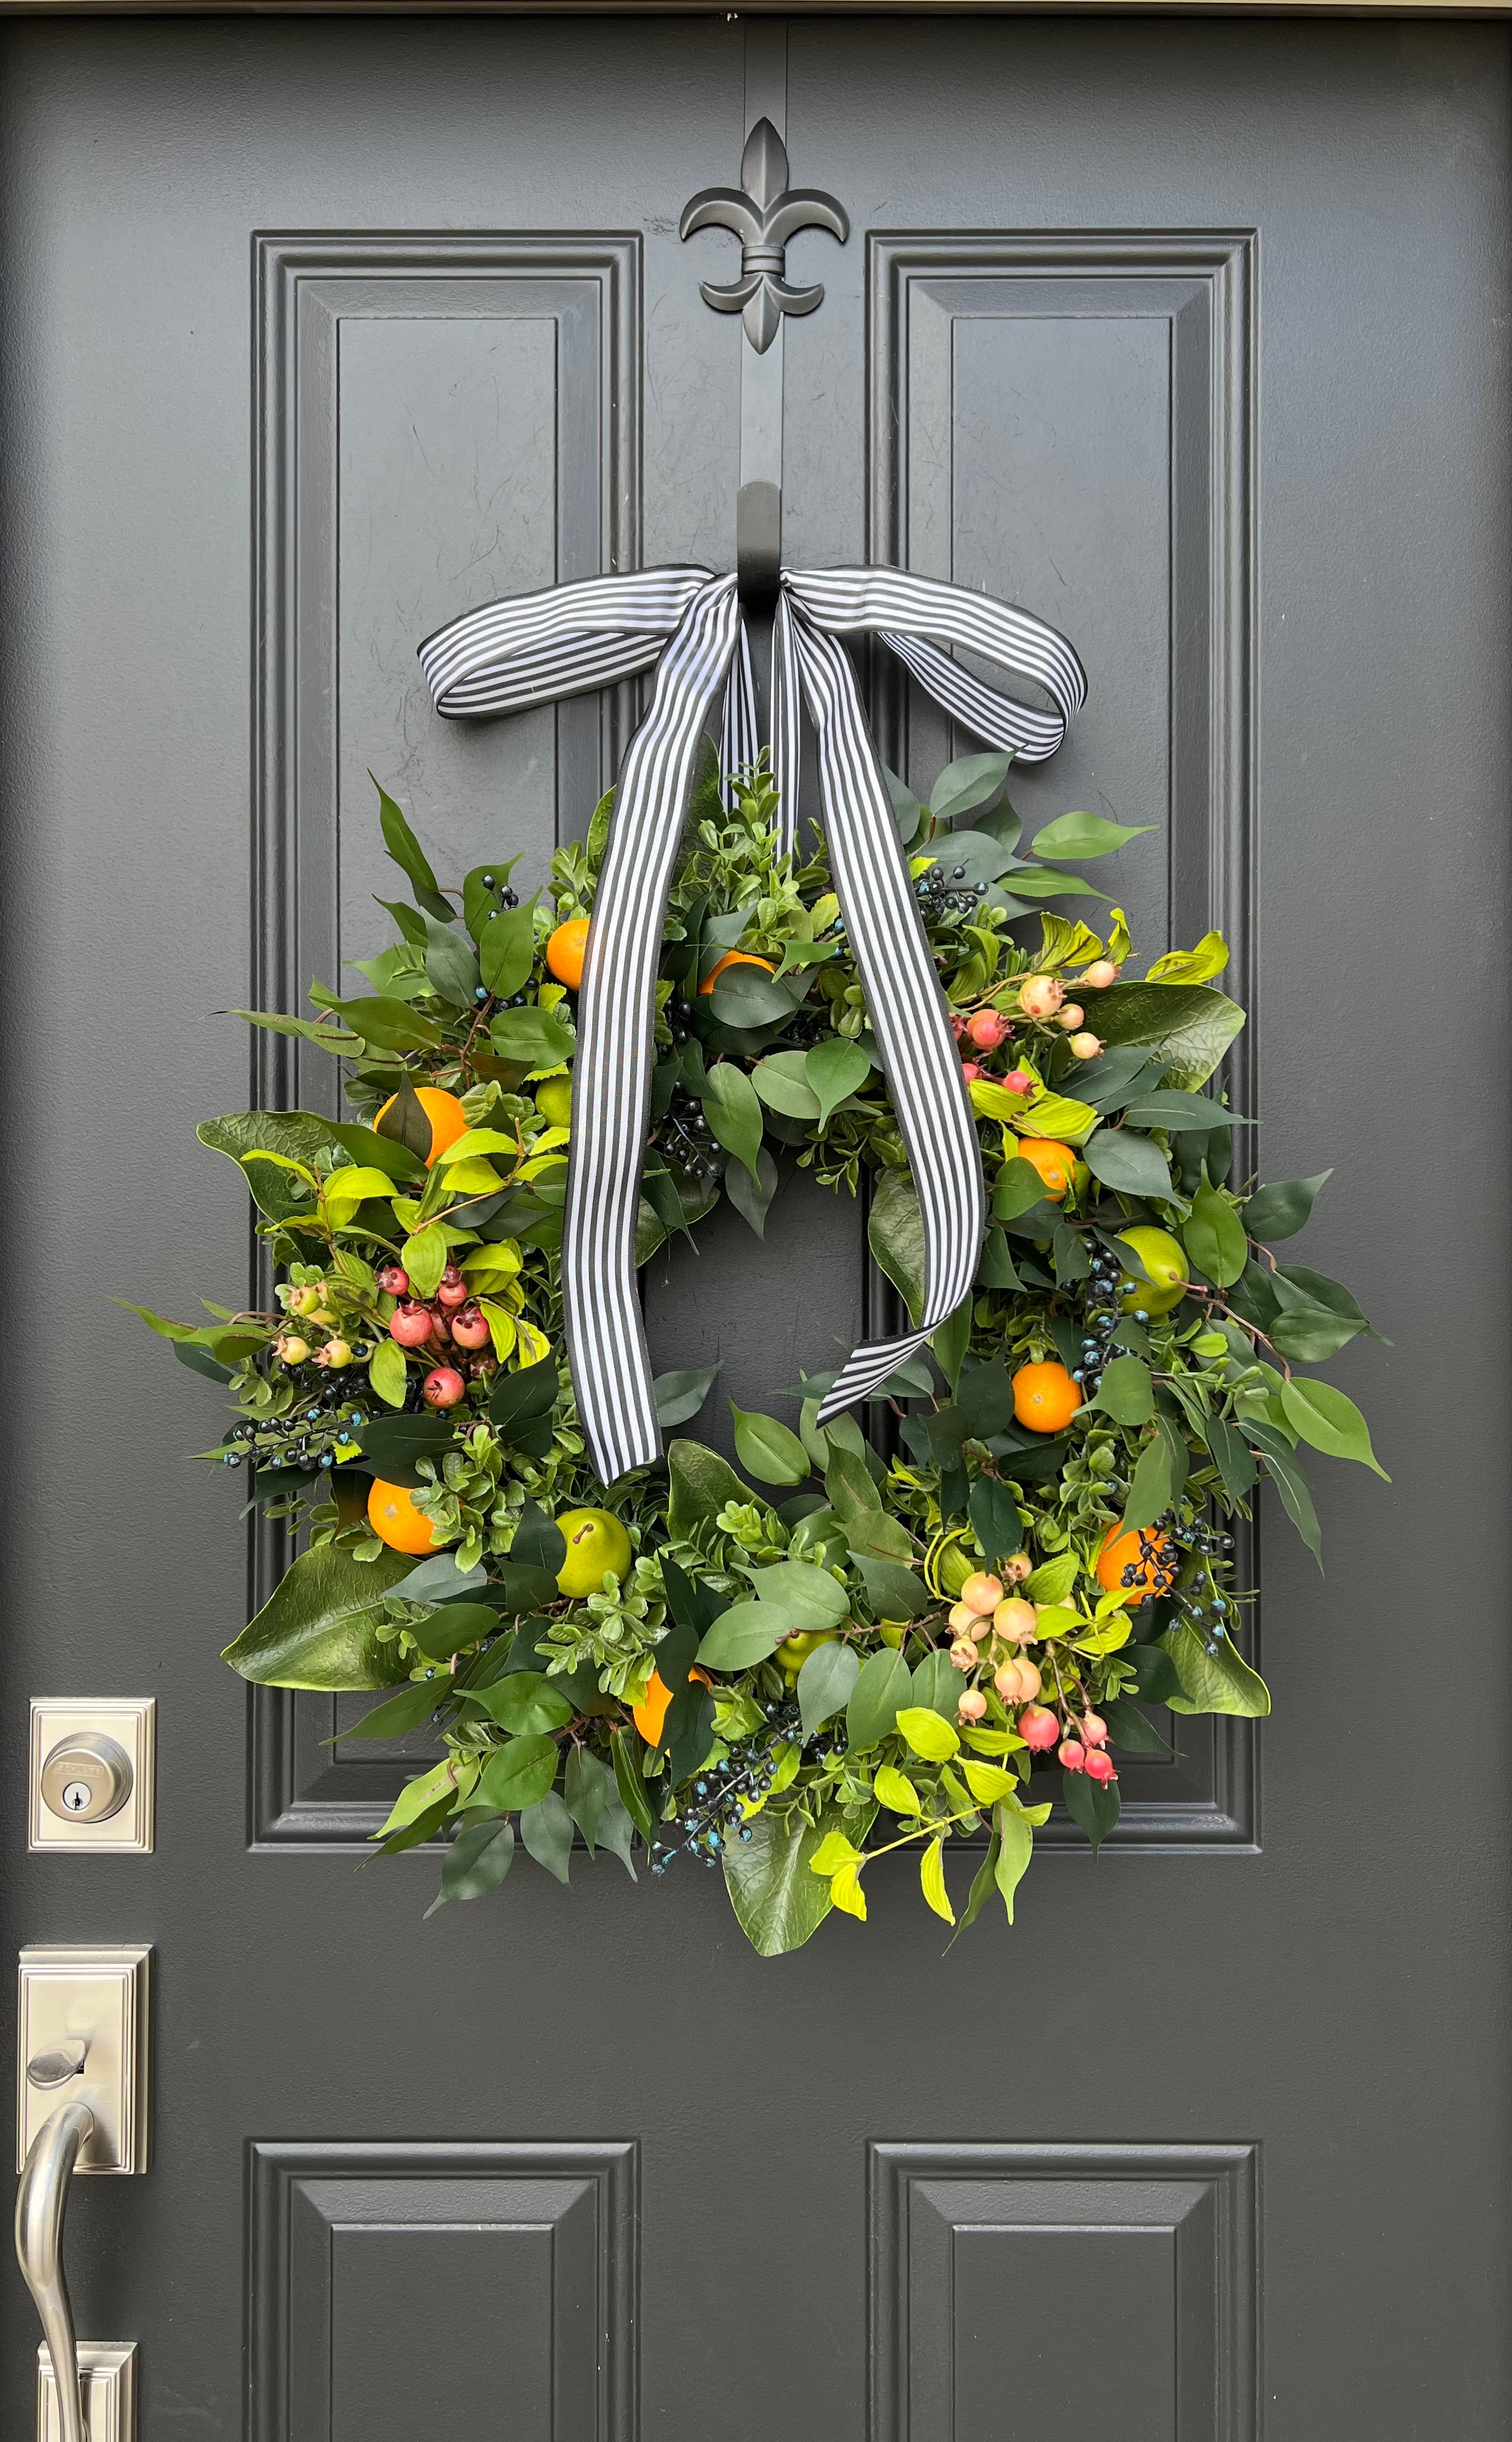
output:
<instances>
[{"instance_id":1,"label":"broad glossy green leaf at wreath's lower left, pointing left","mask_svg":"<svg viewBox=\"0 0 1512 2442\"><path fill-rule=\"evenodd\" d=\"M403 1553L354 1560L335 1543L318 1543L286 1568L222 1661L256 1687L393 1687L405 1665L379 1626L383 1595L410 1568Z\"/></svg>"}]
</instances>

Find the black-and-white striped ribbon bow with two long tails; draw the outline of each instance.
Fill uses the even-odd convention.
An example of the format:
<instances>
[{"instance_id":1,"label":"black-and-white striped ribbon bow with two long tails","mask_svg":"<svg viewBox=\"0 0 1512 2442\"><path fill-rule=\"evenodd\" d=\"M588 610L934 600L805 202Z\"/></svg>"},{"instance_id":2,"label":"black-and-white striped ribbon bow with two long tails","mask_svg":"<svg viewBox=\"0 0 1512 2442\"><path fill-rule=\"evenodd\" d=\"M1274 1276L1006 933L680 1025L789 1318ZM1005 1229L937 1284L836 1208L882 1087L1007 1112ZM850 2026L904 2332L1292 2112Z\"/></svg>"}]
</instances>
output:
<instances>
[{"instance_id":1,"label":"black-and-white striped ribbon bow with two long tails","mask_svg":"<svg viewBox=\"0 0 1512 2442\"><path fill-rule=\"evenodd\" d=\"M1028 610L901 569L784 569L772 623L772 777L782 845L794 845L799 711L818 742L818 791L835 894L923 1216L918 1326L855 1348L821 1424L865 1399L960 1306L984 1228L982 1160L960 1053L928 950L877 747L840 635L879 635L962 728L1043 762L1087 696L1077 654ZM945 647L1031 679L1033 711L982 684ZM449 720L520 713L642 669L657 672L630 742L579 996L562 1302L576 1407L606 1485L662 1451L635 1294L635 1214L652 1084L662 921L699 737L723 694L725 774L755 762L750 642L733 576L645 569L469 610L427 637L420 664Z\"/></svg>"}]
</instances>

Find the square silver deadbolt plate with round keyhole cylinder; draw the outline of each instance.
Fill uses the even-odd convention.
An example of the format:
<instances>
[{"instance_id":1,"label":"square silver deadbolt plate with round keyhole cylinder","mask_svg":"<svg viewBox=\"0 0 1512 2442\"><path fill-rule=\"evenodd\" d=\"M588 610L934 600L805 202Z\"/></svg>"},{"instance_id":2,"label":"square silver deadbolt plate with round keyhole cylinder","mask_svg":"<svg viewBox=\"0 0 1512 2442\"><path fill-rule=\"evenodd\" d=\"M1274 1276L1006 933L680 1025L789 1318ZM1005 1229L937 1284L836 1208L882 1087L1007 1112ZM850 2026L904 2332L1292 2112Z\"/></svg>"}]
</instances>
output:
<instances>
[{"instance_id":1,"label":"square silver deadbolt plate with round keyhole cylinder","mask_svg":"<svg viewBox=\"0 0 1512 2442\"><path fill-rule=\"evenodd\" d=\"M156 1700L32 1697L32 1849L151 1849Z\"/></svg>"}]
</instances>

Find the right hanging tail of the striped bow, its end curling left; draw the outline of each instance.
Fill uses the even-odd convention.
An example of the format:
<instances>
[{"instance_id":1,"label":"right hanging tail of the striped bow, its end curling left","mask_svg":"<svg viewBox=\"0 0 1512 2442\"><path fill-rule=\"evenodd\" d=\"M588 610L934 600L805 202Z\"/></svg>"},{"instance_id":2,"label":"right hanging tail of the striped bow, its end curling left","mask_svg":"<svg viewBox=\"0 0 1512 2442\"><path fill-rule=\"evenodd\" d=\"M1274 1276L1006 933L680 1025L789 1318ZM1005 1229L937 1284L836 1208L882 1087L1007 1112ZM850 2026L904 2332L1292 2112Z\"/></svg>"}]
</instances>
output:
<instances>
[{"instance_id":1,"label":"right hanging tail of the striped bow, its end curling left","mask_svg":"<svg viewBox=\"0 0 1512 2442\"><path fill-rule=\"evenodd\" d=\"M835 891L867 994L923 1219L923 1309L914 1331L855 1348L818 1421L870 1397L970 1294L987 1199L977 1123L945 1018L923 916L845 650L796 618L796 659L818 733L818 786Z\"/></svg>"}]
</instances>

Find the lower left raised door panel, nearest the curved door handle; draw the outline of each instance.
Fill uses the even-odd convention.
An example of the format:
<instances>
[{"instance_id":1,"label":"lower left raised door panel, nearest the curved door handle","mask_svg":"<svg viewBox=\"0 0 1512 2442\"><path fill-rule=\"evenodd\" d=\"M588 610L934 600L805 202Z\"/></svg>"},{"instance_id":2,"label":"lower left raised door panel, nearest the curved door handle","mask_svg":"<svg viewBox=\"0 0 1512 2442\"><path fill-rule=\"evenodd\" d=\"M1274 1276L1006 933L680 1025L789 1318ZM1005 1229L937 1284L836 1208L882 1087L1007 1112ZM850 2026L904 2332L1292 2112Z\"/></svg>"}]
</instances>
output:
<instances>
[{"instance_id":1,"label":"lower left raised door panel, nearest the curved door handle","mask_svg":"<svg viewBox=\"0 0 1512 2442\"><path fill-rule=\"evenodd\" d=\"M633 2142L252 2144L249 2442L635 2442ZM418 2337L425 2347L418 2347Z\"/></svg>"}]
</instances>

